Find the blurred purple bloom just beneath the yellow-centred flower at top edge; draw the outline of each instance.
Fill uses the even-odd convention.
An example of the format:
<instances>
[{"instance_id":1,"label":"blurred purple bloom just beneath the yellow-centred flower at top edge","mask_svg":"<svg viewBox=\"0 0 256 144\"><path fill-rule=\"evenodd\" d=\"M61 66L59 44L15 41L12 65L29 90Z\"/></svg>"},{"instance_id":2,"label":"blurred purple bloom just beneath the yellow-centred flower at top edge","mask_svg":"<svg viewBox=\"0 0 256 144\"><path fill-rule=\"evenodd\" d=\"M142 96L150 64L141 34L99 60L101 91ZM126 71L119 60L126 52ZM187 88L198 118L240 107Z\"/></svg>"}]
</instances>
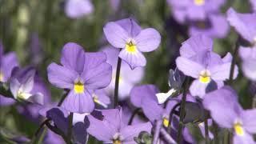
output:
<instances>
[{"instance_id":1,"label":"blurred purple bloom just beneath the yellow-centred flower at top edge","mask_svg":"<svg viewBox=\"0 0 256 144\"><path fill-rule=\"evenodd\" d=\"M222 14L209 14L202 21L190 22L190 35L204 34L210 38L224 38L230 30L226 18Z\"/></svg>"}]
</instances>

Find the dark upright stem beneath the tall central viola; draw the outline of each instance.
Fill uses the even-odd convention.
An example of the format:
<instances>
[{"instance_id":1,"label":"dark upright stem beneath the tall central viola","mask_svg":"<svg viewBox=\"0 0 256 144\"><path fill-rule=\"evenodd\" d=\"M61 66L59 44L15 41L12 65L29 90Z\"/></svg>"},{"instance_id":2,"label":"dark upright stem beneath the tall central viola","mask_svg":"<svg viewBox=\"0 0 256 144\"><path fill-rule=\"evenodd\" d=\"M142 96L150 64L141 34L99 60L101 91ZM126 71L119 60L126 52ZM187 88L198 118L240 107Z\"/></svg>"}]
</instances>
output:
<instances>
[{"instance_id":1,"label":"dark upright stem beneath the tall central viola","mask_svg":"<svg viewBox=\"0 0 256 144\"><path fill-rule=\"evenodd\" d=\"M114 84L114 108L118 106L118 87L119 87L121 63L122 63L122 59L118 58L118 66L115 74L115 84Z\"/></svg>"}]
</instances>

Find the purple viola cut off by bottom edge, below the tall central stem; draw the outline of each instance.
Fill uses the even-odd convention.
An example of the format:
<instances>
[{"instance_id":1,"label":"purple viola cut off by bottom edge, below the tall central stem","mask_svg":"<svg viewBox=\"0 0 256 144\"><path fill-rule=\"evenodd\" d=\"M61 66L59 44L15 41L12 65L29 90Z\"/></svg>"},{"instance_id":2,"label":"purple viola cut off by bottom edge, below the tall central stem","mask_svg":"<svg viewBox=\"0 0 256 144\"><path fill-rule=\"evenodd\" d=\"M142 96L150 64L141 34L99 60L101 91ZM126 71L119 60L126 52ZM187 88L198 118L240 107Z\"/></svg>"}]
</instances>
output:
<instances>
[{"instance_id":1,"label":"purple viola cut off by bottom edge, below the tall central stem","mask_svg":"<svg viewBox=\"0 0 256 144\"><path fill-rule=\"evenodd\" d=\"M135 143L134 137L142 131L150 132L150 122L126 126L122 122L122 110L102 110L103 119L90 117L88 133L104 143Z\"/></svg>"}]
</instances>

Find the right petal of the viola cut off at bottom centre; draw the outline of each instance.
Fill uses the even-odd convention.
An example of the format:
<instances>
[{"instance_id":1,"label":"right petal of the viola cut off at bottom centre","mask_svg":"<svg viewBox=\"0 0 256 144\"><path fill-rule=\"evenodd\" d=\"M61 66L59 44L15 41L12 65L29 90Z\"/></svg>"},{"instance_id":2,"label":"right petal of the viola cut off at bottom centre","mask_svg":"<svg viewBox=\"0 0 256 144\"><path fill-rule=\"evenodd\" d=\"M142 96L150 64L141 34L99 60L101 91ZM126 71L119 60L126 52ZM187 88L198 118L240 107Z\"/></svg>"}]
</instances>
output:
<instances>
[{"instance_id":1,"label":"right petal of the viola cut off at bottom centre","mask_svg":"<svg viewBox=\"0 0 256 144\"><path fill-rule=\"evenodd\" d=\"M137 124L133 126L126 126L121 130L121 135L124 138L123 142L134 142L134 137L142 131L151 132L152 125L150 122Z\"/></svg>"}]
</instances>

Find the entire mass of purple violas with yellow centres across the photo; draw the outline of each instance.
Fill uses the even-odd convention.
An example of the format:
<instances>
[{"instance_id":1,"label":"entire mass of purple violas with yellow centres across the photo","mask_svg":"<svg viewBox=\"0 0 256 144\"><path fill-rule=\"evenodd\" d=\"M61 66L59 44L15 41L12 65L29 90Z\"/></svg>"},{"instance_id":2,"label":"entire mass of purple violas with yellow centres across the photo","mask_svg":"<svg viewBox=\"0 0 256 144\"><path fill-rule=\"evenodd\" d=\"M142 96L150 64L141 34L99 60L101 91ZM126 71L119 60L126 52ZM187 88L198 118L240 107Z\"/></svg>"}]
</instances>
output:
<instances>
[{"instance_id":1,"label":"entire mass of purple violas with yellow centres across the photo","mask_svg":"<svg viewBox=\"0 0 256 144\"><path fill-rule=\"evenodd\" d=\"M85 144L93 140L114 144L210 144L222 139L234 144L256 143L256 98L248 98L252 106L246 105L239 83L247 86L256 80L256 13L240 14L229 8L224 17L221 6L225 0L167 2L174 19L189 26L190 38L182 35L186 40L179 43L179 54L164 67L169 74L166 82L146 79L152 58L149 55L155 56L153 65L166 60L162 58L167 54L163 43L169 40L164 37L165 30L144 28L143 24L142 28L135 18L106 22L102 26L105 44L98 51L67 42L59 62L46 64L48 82L37 66L45 57L34 56L43 51L38 35L32 37L33 66L22 66L22 61L19 64L14 52L5 54L0 42L1 109L10 106L11 112L40 123L32 137L6 134L0 125L0 138L8 143L46 144ZM256 2L250 2L255 10ZM90 0L66 0L64 10L69 18L78 19L92 14L93 4ZM122 1L110 4L118 11ZM223 47L219 52L214 38L225 38L230 26L238 35L234 48L230 47L229 52ZM154 68L153 79L163 77L158 71ZM255 86L250 89L255 95ZM54 90L59 93L51 93ZM58 102L51 98L54 94L60 96ZM195 138L196 134L200 136Z\"/></svg>"}]
</instances>

